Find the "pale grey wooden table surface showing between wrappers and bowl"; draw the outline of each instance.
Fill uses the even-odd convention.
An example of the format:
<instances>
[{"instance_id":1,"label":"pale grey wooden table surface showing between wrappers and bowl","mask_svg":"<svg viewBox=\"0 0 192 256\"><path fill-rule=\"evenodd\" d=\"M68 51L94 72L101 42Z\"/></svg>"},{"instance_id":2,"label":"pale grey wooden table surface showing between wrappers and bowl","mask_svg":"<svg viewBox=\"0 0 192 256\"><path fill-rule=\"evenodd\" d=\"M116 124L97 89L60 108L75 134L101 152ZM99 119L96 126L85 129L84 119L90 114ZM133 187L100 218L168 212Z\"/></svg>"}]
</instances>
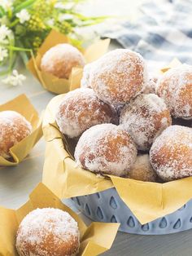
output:
<instances>
[{"instance_id":1,"label":"pale grey wooden table surface showing between wrappers and bowl","mask_svg":"<svg viewBox=\"0 0 192 256\"><path fill-rule=\"evenodd\" d=\"M111 47L114 48L116 45ZM27 76L24 86L7 87L0 82L0 104L24 93L41 113L54 95L44 90L27 70L23 69L22 72ZM16 209L28 200L28 193L41 182L44 153L45 141L41 139L19 166L0 169L0 205ZM111 250L104 255L185 256L191 254L192 230L164 236L139 236L118 232Z\"/></svg>"}]
</instances>

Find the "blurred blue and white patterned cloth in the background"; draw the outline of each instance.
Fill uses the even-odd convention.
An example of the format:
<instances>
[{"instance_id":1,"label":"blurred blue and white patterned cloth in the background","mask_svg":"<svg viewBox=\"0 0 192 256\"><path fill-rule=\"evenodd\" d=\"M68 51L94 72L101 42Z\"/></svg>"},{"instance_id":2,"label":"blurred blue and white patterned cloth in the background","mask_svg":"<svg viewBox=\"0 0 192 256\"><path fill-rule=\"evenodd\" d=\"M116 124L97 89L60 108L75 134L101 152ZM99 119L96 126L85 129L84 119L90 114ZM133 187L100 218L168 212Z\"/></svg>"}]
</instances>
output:
<instances>
[{"instance_id":1,"label":"blurred blue and white patterned cloth in the background","mask_svg":"<svg viewBox=\"0 0 192 256\"><path fill-rule=\"evenodd\" d=\"M139 52L158 68L177 57L192 64L192 0L146 2L134 23L116 24L104 34L124 48Z\"/></svg>"}]
</instances>

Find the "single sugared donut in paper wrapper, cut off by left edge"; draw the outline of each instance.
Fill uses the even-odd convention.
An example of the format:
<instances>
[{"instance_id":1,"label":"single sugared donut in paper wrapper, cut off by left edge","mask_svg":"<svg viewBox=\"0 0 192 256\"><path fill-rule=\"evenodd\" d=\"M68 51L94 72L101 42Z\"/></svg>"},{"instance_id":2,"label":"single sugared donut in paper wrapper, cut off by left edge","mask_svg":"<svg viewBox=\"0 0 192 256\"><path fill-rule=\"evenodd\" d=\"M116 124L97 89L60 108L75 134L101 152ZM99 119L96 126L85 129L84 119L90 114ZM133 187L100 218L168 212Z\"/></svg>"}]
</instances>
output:
<instances>
[{"instance_id":1,"label":"single sugared donut in paper wrapper, cut off by left edge","mask_svg":"<svg viewBox=\"0 0 192 256\"><path fill-rule=\"evenodd\" d=\"M0 112L0 156L10 158L10 148L30 135L31 131L31 124L20 113Z\"/></svg>"}]
</instances>

